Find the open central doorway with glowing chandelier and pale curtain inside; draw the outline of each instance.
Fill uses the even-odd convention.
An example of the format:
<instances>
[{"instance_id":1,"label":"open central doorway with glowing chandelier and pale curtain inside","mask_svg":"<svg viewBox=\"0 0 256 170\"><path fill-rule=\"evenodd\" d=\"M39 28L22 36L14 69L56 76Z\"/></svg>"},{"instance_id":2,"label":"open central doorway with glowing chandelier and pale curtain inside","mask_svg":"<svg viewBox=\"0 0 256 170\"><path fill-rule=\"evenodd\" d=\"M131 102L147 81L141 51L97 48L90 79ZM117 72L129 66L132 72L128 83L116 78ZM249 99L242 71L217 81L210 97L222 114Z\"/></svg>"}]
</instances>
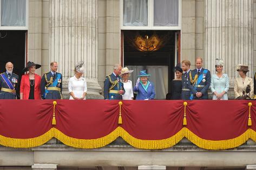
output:
<instances>
[{"instance_id":1,"label":"open central doorway with glowing chandelier and pale curtain inside","mask_svg":"<svg viewBox=\"0 0 256 170\"><path fill-rule=\"evenodd\" d=\"M123 65L134 70L130 77L133 84L139 71L147 70L152 75L149 81L155 85L155 99L165 99L174 79L173 68L179 63L177 45L177 31L123 30Z\"/></svg>"}]
</instances>

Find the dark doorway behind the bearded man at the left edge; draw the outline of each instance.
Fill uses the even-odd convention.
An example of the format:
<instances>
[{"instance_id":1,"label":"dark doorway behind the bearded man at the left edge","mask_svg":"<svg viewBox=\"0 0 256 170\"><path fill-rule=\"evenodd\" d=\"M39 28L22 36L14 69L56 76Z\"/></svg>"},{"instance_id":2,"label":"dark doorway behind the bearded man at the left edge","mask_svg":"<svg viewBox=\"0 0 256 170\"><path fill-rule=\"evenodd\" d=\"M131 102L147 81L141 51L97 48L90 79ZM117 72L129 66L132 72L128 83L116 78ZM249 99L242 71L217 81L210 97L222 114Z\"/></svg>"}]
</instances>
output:
<instances>
[{"instance_id":1,"label":"dark doorway behind the bearded man at the left edge","mask_svg":"<svg viewBox=\"0 0 256 170\"><path fill-rule=\"evenodd\" d=\"M27 31L0 30L0 72L5 72L5 64L14 64L14 73L21 78L25 65L25 42Z\"/></svg>"}]
</instances>

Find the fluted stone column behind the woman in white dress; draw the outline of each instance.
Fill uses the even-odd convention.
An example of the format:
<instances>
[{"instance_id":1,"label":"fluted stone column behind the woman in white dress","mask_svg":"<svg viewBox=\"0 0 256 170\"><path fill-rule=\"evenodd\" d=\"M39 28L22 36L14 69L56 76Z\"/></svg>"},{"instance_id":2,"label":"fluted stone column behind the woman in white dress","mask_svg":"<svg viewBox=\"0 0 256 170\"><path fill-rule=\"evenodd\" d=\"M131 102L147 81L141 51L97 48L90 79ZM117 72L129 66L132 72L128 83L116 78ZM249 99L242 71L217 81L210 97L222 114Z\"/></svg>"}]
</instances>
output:
<instances>
[{"instance_id":1,"label":"fluted stone column behind the woman in white dress","mask_svg":"<svg viewBox=\"0 0 256 170\"><path fill-rule=\"evenodd\" d=\"M83 60L87 99L103 98L98 83L97 0L51 0L49 20L49 60L58 62L63 93L68 93L67 82L74 76L75 63Z\"/></svg>"}]
</instances>

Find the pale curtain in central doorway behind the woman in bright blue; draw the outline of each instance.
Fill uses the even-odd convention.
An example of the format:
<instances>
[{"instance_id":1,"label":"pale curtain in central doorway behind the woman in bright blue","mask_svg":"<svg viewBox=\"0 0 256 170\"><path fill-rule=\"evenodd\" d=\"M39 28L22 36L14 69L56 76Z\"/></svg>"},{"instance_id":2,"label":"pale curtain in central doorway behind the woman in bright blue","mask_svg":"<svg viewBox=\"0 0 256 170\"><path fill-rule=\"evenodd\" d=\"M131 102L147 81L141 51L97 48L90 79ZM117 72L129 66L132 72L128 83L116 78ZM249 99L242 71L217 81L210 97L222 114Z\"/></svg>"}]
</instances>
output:
<instances>
[{"instance_id":1,"label":"pale curtain in central doorway behind the woman in bright blue","mask_svg":"<svg viewBox=\"0 0 256 170\"><path fill-rule=\"evenodd\" d=\"M168 93L168 66L134 66L128 65L129 70L134 70L130 75L130 80L135 86L137 76L141 70L147 70L151 76L148 78L155 86L155 99L165 99Z\"/></svg>"}]
</instances>

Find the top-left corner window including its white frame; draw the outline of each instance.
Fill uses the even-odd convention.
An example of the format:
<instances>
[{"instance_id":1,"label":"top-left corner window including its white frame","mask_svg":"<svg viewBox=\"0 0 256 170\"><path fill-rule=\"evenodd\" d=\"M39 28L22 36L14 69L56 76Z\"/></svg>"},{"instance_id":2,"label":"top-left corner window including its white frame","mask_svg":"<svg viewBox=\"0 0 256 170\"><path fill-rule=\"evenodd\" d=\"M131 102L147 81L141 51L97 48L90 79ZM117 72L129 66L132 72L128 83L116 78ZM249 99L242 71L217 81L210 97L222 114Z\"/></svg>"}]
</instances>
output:
<instances>
[{"instance_id":1,"label":"top-left corner window including its white frame","mask_svg":"<svg viewBox=\"0 0 256 170\"><path fill-rule=\"evenodd\" d=\"M0 30L27 30L28 0L0 0Z\"/></svg>"}]
</instances>

